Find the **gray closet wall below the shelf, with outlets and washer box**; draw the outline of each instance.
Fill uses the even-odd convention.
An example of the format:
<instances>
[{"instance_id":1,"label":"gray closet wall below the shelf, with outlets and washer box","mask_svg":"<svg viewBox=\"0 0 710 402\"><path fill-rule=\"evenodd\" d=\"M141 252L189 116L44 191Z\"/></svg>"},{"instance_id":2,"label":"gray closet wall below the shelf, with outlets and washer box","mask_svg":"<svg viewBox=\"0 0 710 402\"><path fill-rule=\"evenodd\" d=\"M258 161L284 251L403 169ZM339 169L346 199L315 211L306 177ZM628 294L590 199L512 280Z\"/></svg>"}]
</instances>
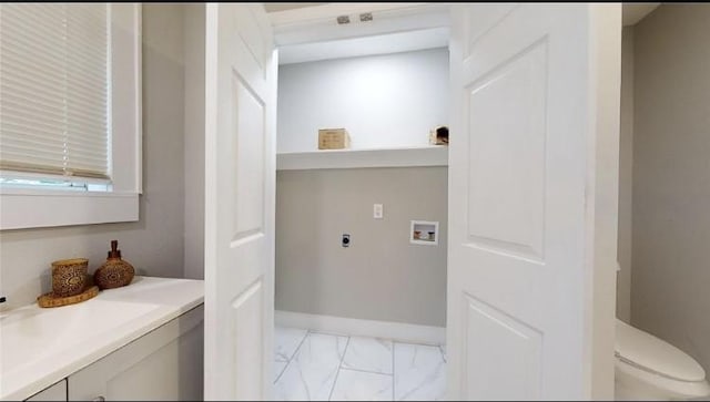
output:
<instances>
[{"instance_id":1,"label":"gray closet wall below the shelf, with outlets and washer box","mask_svg":"<svg viewBox=\"0 0 710 402\"><path fill-rule=\"evenodd\" d=\"M438 246L410 245L412 219ZM446 219L446 167L278 172L276 309L444 327Z\"/></svg>"}]
</instances>

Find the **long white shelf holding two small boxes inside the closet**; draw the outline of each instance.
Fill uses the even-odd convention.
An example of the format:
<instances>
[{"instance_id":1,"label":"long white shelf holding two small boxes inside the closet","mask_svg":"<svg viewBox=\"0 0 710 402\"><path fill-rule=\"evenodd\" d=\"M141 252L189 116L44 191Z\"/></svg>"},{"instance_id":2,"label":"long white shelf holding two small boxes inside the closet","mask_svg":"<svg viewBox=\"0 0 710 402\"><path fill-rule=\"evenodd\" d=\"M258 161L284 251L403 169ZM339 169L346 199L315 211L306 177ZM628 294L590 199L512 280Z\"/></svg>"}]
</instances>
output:
<instances>
[{"instance_id":1,"label":"long white shelf holding two small boxes inside the closet","mask_svg":"<svg viewBox=\"0 0 710 402\"><path fill-rule=\"evenodd\" d=\"M277 171L412 166L448 166L448 146L321 150L276 154Z\"/></svg>"}]
</instances>

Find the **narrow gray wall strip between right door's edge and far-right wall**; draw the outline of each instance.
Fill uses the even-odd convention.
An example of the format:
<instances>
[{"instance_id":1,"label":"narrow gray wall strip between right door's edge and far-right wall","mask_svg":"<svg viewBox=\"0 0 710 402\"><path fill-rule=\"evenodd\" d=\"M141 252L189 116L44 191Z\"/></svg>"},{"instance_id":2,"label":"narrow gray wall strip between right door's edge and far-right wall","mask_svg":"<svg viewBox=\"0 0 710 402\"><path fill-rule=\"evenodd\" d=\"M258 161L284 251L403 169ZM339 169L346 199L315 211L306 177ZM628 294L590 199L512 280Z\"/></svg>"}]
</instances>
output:
<instances>
[{"instance_id":1,"label":"narrow gray wall strip between right door's edge and far-right wall","mask_svg":"<svg viewBox=\"0 0 710 402\"><path fill-rule=\"evenodd\" d=\"M619 133L619 243L617 317L631 322L631 196L633 168L633 28L621 32L621 120Z\"/></svg>"}]
</instances>

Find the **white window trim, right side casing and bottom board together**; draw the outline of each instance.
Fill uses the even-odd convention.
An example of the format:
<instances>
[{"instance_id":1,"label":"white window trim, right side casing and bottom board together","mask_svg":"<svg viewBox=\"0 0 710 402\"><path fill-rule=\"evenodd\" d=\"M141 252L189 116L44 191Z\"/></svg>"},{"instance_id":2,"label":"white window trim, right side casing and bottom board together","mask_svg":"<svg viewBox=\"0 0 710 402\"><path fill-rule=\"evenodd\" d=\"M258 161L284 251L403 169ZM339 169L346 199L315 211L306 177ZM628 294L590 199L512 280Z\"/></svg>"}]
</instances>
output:
<instances>
[{"instance_id":1,"label":"white window trim, right side casing and bottom board together","mask_svg":"<svg viewBox=\"0 0 710 402\"><path fill-rule=\"evenodd\" d=\"M141 16L140 3L112 3L110 7L113 190L3 187L0 189L0 230L139 220L139 194L142 192Z\"/></svg>"}]
</instances>

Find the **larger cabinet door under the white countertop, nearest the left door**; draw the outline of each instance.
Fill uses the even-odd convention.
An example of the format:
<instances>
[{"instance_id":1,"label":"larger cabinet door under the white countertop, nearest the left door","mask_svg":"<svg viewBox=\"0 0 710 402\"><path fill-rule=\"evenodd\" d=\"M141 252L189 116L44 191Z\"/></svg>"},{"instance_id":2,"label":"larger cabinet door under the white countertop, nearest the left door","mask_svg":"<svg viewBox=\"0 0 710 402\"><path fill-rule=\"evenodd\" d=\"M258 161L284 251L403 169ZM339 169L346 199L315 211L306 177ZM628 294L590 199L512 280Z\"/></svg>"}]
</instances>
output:
<instances>
[{"instance_id":1,"label":"larger cabinet door under the white countertop, nearest the left door","mask_svg":"<svg viewBox=\"0 0 710 402\"><path fill-rule=\"evenodd\" d=\"M69 400L201 400L202 323L199 307L75 372Z\"/></svg>"}]
</instances>

